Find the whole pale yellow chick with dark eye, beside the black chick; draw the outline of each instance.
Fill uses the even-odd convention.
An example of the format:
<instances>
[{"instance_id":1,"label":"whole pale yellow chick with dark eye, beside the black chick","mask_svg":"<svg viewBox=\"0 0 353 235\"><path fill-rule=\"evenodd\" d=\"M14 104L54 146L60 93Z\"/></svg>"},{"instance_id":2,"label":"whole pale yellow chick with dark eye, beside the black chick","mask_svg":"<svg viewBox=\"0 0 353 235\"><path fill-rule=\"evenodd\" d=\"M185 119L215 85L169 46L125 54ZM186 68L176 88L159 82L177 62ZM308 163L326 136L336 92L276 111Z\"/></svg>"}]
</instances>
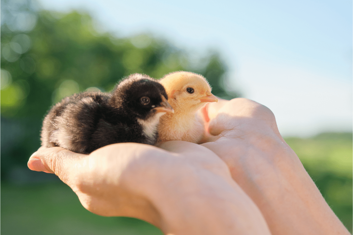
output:
<instances>
[{"instance_id":1,"label":"whole pale yellow chick with dark eye, beside the black chick","mask_svg":"<svg viewBox=\"0 0 353 235\"><path fill-rule=\"evenodd\" d=\"M158 142L183 140L200 143L205 134L204 121L198 114L208 102L217 102L206 79L191 72L165 75L160 83L166 89L174 113L160 118Z\"/></svg>"}]
</instances>

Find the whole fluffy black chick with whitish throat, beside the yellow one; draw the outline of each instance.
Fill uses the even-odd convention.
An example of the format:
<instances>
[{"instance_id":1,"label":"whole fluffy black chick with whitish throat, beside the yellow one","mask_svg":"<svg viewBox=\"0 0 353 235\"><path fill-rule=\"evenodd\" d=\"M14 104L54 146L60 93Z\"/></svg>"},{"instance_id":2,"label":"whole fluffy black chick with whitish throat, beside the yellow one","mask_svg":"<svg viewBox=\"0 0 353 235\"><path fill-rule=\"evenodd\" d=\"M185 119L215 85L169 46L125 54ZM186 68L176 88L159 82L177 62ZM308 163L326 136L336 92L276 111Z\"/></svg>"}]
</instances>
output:
<instances>
[{"instance_id":1,"label":"whole fluffy black chick with whitish throat, beside the yellow one","mask_svg":"<svg viewBox=\"0 0 353 235\"><path fill-rule=\"evenodd\" d=\"M83 92L54 105L43 120L42 146L89 154L113 143L155 144L160 117L174 112L164 87L132 74L112 92Z\"/></svg>"}]
</instances>

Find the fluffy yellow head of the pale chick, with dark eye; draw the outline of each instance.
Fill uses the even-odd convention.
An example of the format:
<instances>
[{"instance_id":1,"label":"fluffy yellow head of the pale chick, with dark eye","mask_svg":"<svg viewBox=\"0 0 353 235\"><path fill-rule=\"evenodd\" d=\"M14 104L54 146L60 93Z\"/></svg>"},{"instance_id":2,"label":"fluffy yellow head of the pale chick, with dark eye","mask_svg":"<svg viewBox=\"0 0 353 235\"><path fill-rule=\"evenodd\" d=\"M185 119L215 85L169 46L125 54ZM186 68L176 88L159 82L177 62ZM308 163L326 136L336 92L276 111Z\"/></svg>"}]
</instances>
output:
<instances>
[{"instance_id":1,"label":"fluffy yellow head of the pale chick, with dark eye","mask_svg":"<svg viewBox=\"0 0 353 235\"><path fill-rule=\"evenodd\" d=\"M207 102L217 102L211 93L207 80L199 74L191 72L174 72L160 80L166 89L169 103L174 109L183 106L189 111L196 111Z\"/></svg>"}]
</instances>

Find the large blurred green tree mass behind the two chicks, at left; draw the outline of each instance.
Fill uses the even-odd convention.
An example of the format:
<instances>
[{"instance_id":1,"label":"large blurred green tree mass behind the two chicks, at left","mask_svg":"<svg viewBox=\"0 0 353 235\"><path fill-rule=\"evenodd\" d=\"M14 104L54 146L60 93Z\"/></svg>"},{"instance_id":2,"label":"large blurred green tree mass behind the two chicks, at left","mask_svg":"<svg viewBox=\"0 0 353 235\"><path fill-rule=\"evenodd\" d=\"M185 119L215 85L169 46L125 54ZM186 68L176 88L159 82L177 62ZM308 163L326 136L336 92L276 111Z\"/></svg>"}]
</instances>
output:
<instances>
[{"instance_id":1,"label":"large blurred green tree mass behind the two chicks, at left","mask_svg":"<svg viewBox=\"0 0 353 235\"><path fill-rule=\"evenodd\" d=\"M110 91L131 73L161 78L177 70L200 73L215 95L235 97L222 87L227 67L217 52L197 58L147 34L100 34L89 14L38 11L31 0L1 0L2 179L40 146L42 118L52 104L86 89Z\"/></svg>"}]
</instances>

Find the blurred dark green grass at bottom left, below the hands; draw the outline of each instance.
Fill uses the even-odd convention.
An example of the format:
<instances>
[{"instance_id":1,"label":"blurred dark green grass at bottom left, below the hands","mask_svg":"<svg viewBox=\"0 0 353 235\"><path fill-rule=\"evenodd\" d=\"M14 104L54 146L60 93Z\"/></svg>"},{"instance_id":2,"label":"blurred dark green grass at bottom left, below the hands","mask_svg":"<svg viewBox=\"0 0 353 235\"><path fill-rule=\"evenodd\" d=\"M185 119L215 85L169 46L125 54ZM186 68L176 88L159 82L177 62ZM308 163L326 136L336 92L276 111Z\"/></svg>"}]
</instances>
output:
<instances>
[{"instance_id":1,"label":"blurred dark green grass at bottom left, below the hands","mask_svg":"<svg viewBox=\"0 0 353 235\"><path fill-rule=\"evenodd\" d=\"M153 225L127 217L92 214L64 183L1 185L1 234L161 235Z\"/></svg>"}]
</instances>

